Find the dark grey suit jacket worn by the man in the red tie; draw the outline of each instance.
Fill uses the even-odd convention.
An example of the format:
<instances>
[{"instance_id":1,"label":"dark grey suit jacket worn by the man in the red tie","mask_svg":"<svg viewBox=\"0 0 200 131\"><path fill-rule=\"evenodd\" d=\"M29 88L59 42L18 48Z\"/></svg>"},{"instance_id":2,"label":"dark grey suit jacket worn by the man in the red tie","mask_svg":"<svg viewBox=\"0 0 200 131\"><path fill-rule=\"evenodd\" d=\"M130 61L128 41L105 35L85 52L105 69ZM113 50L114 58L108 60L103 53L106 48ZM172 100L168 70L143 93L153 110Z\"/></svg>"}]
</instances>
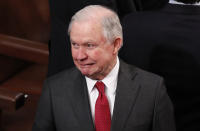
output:
<instances>
[{"instance_id":1,"label":"dark grey suit jacket worn by the man in the red tie","mask_svg":"<svg viewBox=\"0 0 200 131\"><path fill-rule=\"evenodd\" d=\"M76 69L48 78L33 131L94 131L85 77ZM163 79L120 62L111 131L174 131Z\"/></svg>"}]
</instances>

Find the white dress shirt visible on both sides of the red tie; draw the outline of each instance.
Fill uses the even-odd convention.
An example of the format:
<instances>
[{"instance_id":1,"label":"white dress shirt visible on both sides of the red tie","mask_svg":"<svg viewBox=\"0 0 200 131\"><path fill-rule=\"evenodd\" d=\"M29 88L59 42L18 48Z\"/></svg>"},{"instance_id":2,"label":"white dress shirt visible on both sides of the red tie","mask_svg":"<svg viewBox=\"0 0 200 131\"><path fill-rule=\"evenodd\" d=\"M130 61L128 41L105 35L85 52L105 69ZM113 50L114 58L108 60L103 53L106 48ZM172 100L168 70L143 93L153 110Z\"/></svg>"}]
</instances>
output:
<instances>
[{"instance_id":1,"label":"white dress shirt visible on both sides of the red tie","mask_svg":"<svg viewBox=\"0 0 200 131\"><path fill-rule=\"evenodd\" d=\"M105 93L108 98L111 117L113 114L113 108L114 108L114 102L115 102L118 72L119 72L119 58L117 57L117 63L115 64L114 68L103 80L101 80L105 84ZM95 103L99 96L98 90L96 88L94 88L94 85L96 84L97 80L92 80L88 77L85 77L85 78L86 78L86 83L87 83L87 87L88 87L88 94L89 94L88 96L89 96L89 100L90 100L92 118L94 120Z\"/></svg>"}]
</instances>

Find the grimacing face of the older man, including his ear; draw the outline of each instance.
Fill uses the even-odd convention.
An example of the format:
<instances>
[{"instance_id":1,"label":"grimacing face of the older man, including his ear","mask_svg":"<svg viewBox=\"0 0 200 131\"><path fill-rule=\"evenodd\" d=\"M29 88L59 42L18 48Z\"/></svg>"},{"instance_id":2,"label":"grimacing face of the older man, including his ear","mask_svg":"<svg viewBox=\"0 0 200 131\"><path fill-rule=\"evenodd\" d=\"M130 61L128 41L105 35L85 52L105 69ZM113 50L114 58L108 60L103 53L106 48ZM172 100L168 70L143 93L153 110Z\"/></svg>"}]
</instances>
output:
<instances>
[{"instance_id":1,"label":"grimacing face of the older man, including his ear","mask_svg":"<svg viewBox=\"0 0 200 131\"><path fill-rule=\"evenodd\" d=\"M106 41L99 23L74 22L70 39L73 61L83 75L103 79L112 70L116 63L116 47Z\"/></svg>"}]
</instances>

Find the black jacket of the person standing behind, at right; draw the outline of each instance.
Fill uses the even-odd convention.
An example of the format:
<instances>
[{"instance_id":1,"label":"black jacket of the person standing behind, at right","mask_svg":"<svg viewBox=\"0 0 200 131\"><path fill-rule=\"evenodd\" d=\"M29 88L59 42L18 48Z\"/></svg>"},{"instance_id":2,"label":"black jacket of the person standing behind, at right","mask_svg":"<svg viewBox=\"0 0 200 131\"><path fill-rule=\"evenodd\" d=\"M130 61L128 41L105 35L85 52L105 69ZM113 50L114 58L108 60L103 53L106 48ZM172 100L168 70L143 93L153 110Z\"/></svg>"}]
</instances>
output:
<instances>
[{"instance_id":1,"label":"black jacket of the person standing behind, at right","mask_svg":"<svg viewBox=\"0 0 200 131\"><path fill-rule=\"evenodd\" d=\"M121 58L164 77L180 131L200 130L200 7L166 5L123 20Z\"/></svg>"}]
</instances>

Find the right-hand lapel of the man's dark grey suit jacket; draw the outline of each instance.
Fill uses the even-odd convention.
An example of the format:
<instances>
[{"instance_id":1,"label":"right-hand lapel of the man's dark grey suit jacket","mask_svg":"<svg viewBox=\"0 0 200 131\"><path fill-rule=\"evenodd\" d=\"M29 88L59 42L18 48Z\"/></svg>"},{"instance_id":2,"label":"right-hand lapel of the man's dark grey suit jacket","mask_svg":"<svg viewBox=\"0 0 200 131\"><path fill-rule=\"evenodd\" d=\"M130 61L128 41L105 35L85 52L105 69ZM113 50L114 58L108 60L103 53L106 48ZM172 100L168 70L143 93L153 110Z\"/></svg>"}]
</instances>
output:
<instances>
[{"instance_id":1,"label":"right-hand lapel of the man's dark grey suit jacket","mask_svg":"<svg viewBox=\"0 0 200 131\"><path fill-rule=\"evenodd\" d=\"M120 61L120 70L112 117L111 131L123 130L129 113L134 108L134 103L139 91L138 82L134 81L137 73L134 68Z\"/></svg>"}]
</instances>

